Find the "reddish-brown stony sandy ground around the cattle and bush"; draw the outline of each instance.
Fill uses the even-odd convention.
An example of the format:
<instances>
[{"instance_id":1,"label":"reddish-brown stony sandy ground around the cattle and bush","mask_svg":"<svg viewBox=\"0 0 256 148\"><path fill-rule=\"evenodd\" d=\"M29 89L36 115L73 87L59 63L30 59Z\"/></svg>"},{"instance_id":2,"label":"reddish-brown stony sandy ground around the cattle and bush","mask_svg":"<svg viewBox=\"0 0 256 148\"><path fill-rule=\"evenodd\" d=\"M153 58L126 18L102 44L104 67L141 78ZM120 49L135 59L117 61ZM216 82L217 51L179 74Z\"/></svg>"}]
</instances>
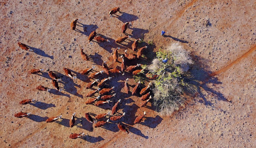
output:
<instances>
[{"instance_id":1,"label":"reddish-brown stony sandy ground around the cattle and bush","mask_svg":"<svg viewBox=\"0 0 256 148\"><path fill-rule=\"evenodd\" d=\"M255 1L1 1L1 147L255 147ZM124 14L109 18L108 11L120 7ZM80 31L70 30L71 21L80 17ZM208 20L208 21L207 21ZM103 61L113 63L114 40L121 36L123 22L133 21L127 33L131 40L144 36L153 41L146 54L179 42L191 52L196 65L197 95L189 105L172 117L162 116L154 107L139 108L137 96L122 93L124 80L115 75L107 87L115 86L117 96L103 107L85 105L84 88L88 77L79 75L86 67L101 70ZM88 45L96 30L110 43ZM160 36L166 30L167 37ZM21 50L17 42L34 52ZM142 46L142 44L140 45ZM80 47L93 61L80 57ZM131 50L129 49L129 52ZM120 52L121 53L121 52ZM136 61L137 62L137 61ZM145 63L146 60L138 61ZM74 82L62 75L63 67L72 69ZM47 73L28 74L32 68L61 73L65 91L38 92L36 86L53 88ZM106 75L100 76L100 78ZM130 85L135 85L131 79ZM95 87L96 88L96 87ZM36 103L20 105L22 99ZM100 128L84 117L85 112L107 113L121 99L119 113L131 134L118 131L117 122ZM106 110L105 110L106 109ZM15 118L16 112L31 112L29 118ZM135 116L147 115L143 124L133 125ZM76 126L68 127L76 112ZM62 114L59 122L46 123L48 117ZM81 123L80 120L83 122ZM60 122L61 121L61 122ZM69 139L70 133L85 132L84 139Z\"/></svg>"}]
</instances>

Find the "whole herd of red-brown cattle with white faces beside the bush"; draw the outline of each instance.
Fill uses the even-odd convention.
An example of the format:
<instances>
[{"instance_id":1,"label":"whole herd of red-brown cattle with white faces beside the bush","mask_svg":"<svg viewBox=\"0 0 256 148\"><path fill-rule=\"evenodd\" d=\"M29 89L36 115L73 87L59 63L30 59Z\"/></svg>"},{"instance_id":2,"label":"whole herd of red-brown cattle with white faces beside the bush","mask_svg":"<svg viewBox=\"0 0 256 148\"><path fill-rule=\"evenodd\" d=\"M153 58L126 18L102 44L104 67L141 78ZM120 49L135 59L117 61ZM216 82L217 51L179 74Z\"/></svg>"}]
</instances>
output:
<instances>
[{"instance_id":1,"label":"whole herd of red-brown cattle with white faces beside the bush","mask_svg":"<svg viewBox=\"0 0 256 148\"><path fill-rule=\"evenodd\" d=\"M117 8L113 8L112 10L110 10L109 12L109 17L112 17L113 14L117 13L117 12L120 12L120 9L119 7ZM120 12L121 13L121 12ZM76 28L76 24L77 24L77 21L79 21L79 18L78 19L75 19L72 23L71 23L71 29L72 30L75 30ZM122 25L121 27L121 30L122 30L122 33L125 34L125 31L126 29L129 27L129 25L131 25L131 22L126 22ZM121 37L118 37L117 40L115 40L116 43L121 43L123 41L125 41L127 38L130 38L131 36L121 36ZM92 40L96 40L97 42L109 42L109 40L101 37L101 36L97 36L97 33L95 31L92 31L91 34L89 35L88 37L88 42L89 44L91 44L91 41ZM133 51L136 51L137 50L137 45L138 45L138 41L140 41L141 39L137 39L133 42L132 44L132 50ZM23 43L18 43L19 47L21 49L24 49L24 50L28 50L28 51L32 51L26 44L23 44ZM125 50L125 54L121 55L120 58L122 60L121 62L121 68L112 68L112 69L109 69L106 65L106 61L104 61L102 63L102 71L99 71L99 72L93 72L89 75L89 73L95 68L95 67L91 67L91 68L88 68L88 69L85 69L81 72L81 75L89 75L88 78L89 79L96 79L99 75L101 75L103 72L106 73L108 76L110 75L110 73L120 73L122 75L124 75L124 72L125 70L132 73L133 75L137 75L138 73L142 72L143 69L137 69L137 67L140 66L140 64L137 64L137 65L134 65L134 66L129 66L129 67L126 67L126 63L129 62L129 60L133 60L133 59L136 59L136 58L140 58L143 54L143 51L147 48L147 46L145 47L142 47L142 48L139 48L138 49L138 52L137 52L137 56L133 55L133 54L127 54L127 50ZM115 51L114 51L114 54L113 54L113 59L115 62L118 61L118 49L120 48L116 48ZM89 60L89 57L86 53L83 52L83 49L81 49L81 56L82 56L82 59L87 61ZM137 69L137 70L136 70ZM37 74L37 73L40 73L42 70L44 69L31 69L29 71L29 73L31 74ZM63 68L65 74L70 77L71 79L75 79L76 77L71 73L71 70L67 69L67 68ZM52 85L53 87L57 90L57 91L63 91L62 89L60 89L59 85L58 85L58 82L61 81L60 78L57 77L57 75L53 72L53 71L49 71L48 72L50 78L52 79ZM146 77L150 80L153 80L153 79L156 79L157 78L157 75L152 75L150 73L147 73L145 74ZM103 105L105 103L109 103L110 99L112 97L114 97L116 94L110 94L112 92L112 90L115 88L115 87L112 87L112 88L103 88L101 89L105 83L107 82L107 80L110 80L112 77L108 77L108 78L104 78L102 79L101 81L99 81L99 79L96 79L94 81L91 81L89 83L86 84L85 88L89 89L89 88L92 88L95 84L97 84L96 82L99 82L97 84L98 86L98 89L96 90L92 90L92 91L89 91L87 94L86 94L86 97L93 97L97 92L98 92L98 96L96 98L91 98L91 99L88 99L85 104L94 104L95 106L100 106L100 105ZM124 85L124 91L126 94L128 94L128 92L130 91L130 88L129 88L129 85L128 85L128 78L126 79L125 81L125 85ZM142 88L141 91L139 91L141 88L140 86L140 81L137 83L137 85L132 89L132 95L135 95L136 93L139 93L140 95L142 95L140 97L140 99L142 100L141 104L140 104L140 107L143 107L145 105L147 105L148 101L152 98L151 95L150 95L150 89L151 89L151 83L148 84L148 86L146 86L145 88ZM38 89L39 91L50 91L49 88L47 87L44 87L44 86L38 86L36 87L36 89ZM25 99L25 100L22 100L20 101L20 104L22 105L25 105L25 104L28 104L30 102L34 101L34 99ZM125 113L123 113L122 115L114 115L117 111L118 111L118 104L119 102L121 101L118 100L115 105L112 107L112 116L110 115L110 112L108 113L102 113L102 114L98 114L96 115L94 118L91 117L90 113L85 113L85 118L86 120L88 120L90 123L94 123L93 124L93 127L101 127L103 126L104 124L107 124L109 122L109 119L112 120L112 121L116 121L116 120L119 120L120 118L122 118ZM26 116L29 116L30 113L24 113L24 112L19 112L19 113L16 113L14 116L15 117L18 117L18 118L22 118L22 117L26 117ZM146 112L144 112L142 115L139 115L135 121L134 121L134 124L137 124L137 123L140 123L144 117L144 115L146 115ZM103 118L106 118L106 117L110 117L108 118L106 121L97 121L99 119L103 119ZM54 122L55 120L58 120L62 117L62 115L60 116L57 116L57 117L50 117L46 120L46 123L50 123L50 122ZM69 121L69 126L70 127L73 127L75 125L75 113L72 114L72 117ZM117 124L118 128L121 130L121 131L124 131L126 132L127 134L129 134L129 131L126 129L126 127L124 125L122 125L120 122ZM79 138L79 137L82 137L84 136L84 133L79 133L79 134L76 134L76 133L71 133L69 135L69 138L71 139L76 139L76 138Z\"/></svg>"}]
</instances>

